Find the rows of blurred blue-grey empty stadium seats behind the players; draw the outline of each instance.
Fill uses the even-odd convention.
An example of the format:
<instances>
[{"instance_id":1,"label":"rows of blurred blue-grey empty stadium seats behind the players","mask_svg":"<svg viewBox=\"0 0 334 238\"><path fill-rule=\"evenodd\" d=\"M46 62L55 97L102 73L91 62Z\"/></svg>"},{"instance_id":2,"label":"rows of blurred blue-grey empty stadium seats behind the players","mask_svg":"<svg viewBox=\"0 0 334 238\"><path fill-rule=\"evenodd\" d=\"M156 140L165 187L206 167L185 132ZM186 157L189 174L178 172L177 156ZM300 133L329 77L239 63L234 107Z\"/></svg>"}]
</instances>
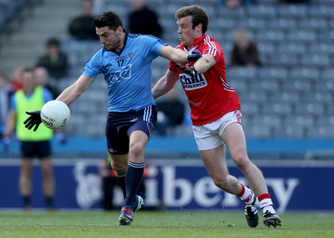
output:
<instances>
[{"instance_id":1,"label":"rows of blurred blue-grey empty stadium seats behind the players","mask_svg":"<svg viewBox=\"0 0 334 238\"><path fill-rule=\"evenodd\" d=\"M159 21L165 29L162 39L172 46L179 44L175 11L190 2L147 1L160 16ZM130 11L127 1L115 4L104 0L104 3L106 8L119 12L123 18ZM216 0L197 1L197 4L202 4L209 12L207 33L224 50L226 78L239 95L246 136L334 137L334 130L328 128L334 127L334 70L330 68L334 62L334 30L330 30L334 27L333 1L313 0L310 5L283 6L276 0L257 0L253 5L233 10ZM263 67L229 66L237 28L245 28L251 39L258 43ZM70 63L74 68L71 76L77 77L85 61L99 49L100 44L72 41L64 42L64 47L70 52ZM168 61L156 59L152 68L154 85L164 75ZM99 121L104 123L102 115L105 115L108 99L104 95L106 85L103 78L96 79L87 94L86 99L73 103L72 111L73 117L80 118L79 113L82 113L85 119L91 120L91 124L88 123L85 130L77 130L80 123L84 123L78 120L78 124L68 124L68 127L73 127L69 130L75 135L101 136L104 134L98 129L101 125L94 127L91 118L101 115ZM180 97L184 98L184 95ZM94 113L91 113L93 108ZM191 135L191 130L177 129L174 133Z\"/></svg>"}]
</instances>

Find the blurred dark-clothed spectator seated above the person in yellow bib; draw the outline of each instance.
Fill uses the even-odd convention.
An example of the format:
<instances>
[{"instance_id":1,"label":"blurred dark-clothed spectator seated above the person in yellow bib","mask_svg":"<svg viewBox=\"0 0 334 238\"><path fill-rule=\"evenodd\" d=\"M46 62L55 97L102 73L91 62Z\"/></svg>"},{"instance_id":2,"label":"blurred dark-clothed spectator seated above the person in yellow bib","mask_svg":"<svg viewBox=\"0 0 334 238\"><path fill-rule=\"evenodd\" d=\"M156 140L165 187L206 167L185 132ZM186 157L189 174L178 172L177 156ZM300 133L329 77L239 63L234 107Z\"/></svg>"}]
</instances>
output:
<instances>
[{"instance_id":1,"label":"blurred dark-clothed spectator seated above the person in yellow bib","mask_svg":"<svg viewBox=\"0 0 334 238\"><path fill-rule=\"evenodd\" d=\"M57 38L51 38L46 43L47 52L38 59L36 67L45 67L49 76L59 80L67 76L68 61L67 55L61 51L60 41Z\"/></svg>"}]
</instances>

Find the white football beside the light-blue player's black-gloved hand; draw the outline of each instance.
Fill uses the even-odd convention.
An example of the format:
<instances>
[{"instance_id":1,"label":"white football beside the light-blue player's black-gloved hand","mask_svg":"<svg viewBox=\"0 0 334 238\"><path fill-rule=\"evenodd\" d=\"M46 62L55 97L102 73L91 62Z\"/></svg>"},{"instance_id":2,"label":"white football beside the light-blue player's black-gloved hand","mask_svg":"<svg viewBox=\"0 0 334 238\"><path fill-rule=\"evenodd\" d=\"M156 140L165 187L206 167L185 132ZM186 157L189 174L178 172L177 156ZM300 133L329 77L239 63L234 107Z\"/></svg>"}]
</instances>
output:
<instances>
[{"instance_id":1,"label":"white football beside the light-blue player's black-gloved hand","mask_svg":"<svg viewBox=\"0 0 334 238\"><path fill-rule=\"evenodd\" d=\"M68 123L70 116L68 106L62 101L48 101L41 110L43 124L52 130L62 129Z\"/></svg>"}]
</instances>

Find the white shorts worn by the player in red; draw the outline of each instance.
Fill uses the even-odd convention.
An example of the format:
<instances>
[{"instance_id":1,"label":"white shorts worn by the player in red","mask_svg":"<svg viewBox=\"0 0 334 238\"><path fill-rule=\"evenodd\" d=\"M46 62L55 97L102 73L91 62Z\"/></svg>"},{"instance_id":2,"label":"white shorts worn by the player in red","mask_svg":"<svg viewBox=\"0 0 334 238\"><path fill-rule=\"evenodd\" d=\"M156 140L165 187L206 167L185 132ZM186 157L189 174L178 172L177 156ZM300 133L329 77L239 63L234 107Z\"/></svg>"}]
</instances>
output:
<instances>
[{"instance_id":1,"label":"white shorts worn by the player in red","mask_svg":"<svg viewBox=\"0 0 334 238\"><path fill-rule=\"evenodd\" d=\"M220 138L226 126L233 122L241 124L242 114L239 110L232 111L211 123L205 125L193 125L193 132L199 151L211 150L224 144Z\"/></svg>"}]
</instances>

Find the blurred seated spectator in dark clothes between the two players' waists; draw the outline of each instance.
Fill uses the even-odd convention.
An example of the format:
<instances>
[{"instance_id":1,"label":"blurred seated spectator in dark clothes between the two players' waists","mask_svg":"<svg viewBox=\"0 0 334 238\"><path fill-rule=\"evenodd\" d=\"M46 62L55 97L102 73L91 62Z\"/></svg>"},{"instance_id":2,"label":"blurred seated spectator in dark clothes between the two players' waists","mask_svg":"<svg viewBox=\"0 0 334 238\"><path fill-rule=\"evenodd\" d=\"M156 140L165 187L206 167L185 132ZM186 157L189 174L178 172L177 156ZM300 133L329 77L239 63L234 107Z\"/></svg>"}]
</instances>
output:
<instances>
[{"instance_id":1,"label":"blurred seated spectator in dark clothes between the two players' waists","mask_svg":"<svg viewBox=\"0 0 334 238\"><path fill-rule=\"evenodd\" d=\"M155 131L160 135L166 135L168 129L182 124L184 118L184 104L177 98L177 89L173 87L165 97L165 100L156 104L158 118Z\"/></svg>"}]
</instances>

